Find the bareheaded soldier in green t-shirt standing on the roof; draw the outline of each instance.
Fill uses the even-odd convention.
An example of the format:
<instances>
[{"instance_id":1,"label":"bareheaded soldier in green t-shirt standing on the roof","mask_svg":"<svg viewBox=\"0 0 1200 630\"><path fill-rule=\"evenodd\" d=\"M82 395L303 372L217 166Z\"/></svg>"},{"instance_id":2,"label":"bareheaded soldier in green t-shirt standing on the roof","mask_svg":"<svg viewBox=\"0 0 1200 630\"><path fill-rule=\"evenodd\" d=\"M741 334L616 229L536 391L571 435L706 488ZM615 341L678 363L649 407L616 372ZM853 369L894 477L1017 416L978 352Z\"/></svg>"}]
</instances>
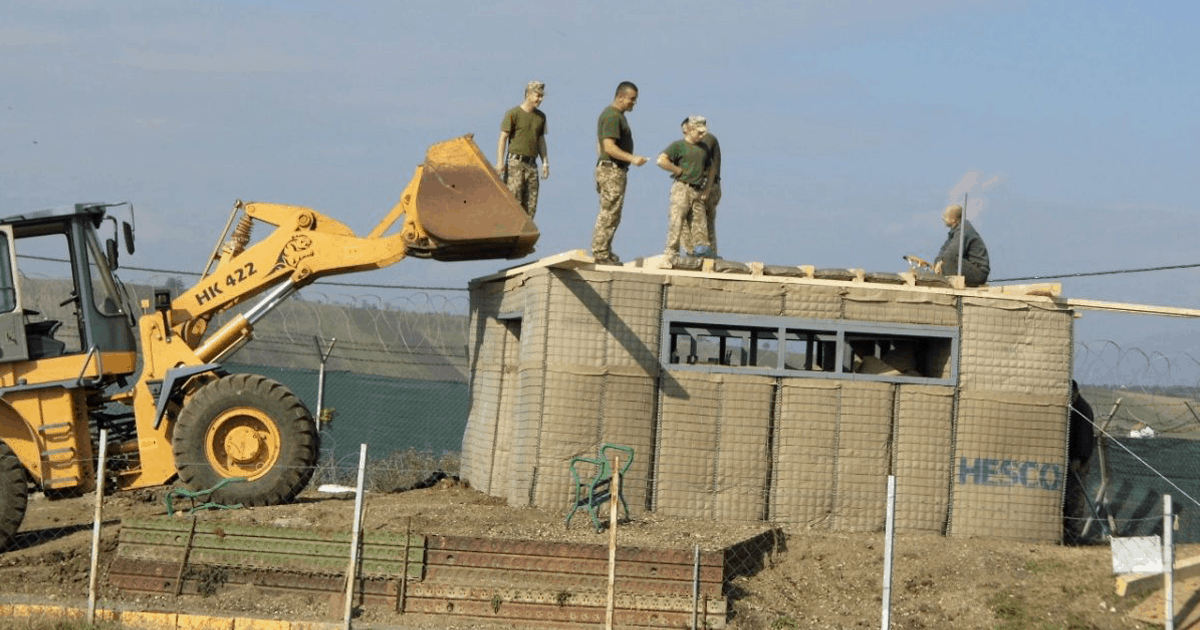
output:
<instances>
[{"instance_id":1,"label":"bareheaded soldier in green t-shirt standing on the roof","mask_svg":"<svg viewBox=\"0 0 1200 630\"><path fill-rule=\"evenodd\" d=\"M634 132L629 128L625 113L637 103L637 85L624 80L617 85L612 104L600 113L596 121L596 193L600 196L600 214L592 230L592 258L598 264L614 265L620 262L612 253L612 238L620 224L620 210L625 205L625 175L629 164L642 166L646 157L634 155Z\"/></svg>"}]
</instances>

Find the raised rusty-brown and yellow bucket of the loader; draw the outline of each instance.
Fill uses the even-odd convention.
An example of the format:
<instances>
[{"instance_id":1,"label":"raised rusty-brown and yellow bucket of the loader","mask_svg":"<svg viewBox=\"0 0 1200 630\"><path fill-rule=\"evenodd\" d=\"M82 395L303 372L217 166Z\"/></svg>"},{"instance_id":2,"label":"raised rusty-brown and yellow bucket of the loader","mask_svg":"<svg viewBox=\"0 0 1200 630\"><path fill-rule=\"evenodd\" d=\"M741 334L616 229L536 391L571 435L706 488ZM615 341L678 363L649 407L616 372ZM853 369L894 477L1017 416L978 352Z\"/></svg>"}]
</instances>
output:
<instances>
[{"instance_id":1,"label":"raised rusty-brown and yellow bucket of the loader","mask_svg":"<svg viewBox=\"0 0 1200 630\"><path fill-rule=\"evenodd\" d=\"M540 236L469 134L430 146L408 212L427 236L408 246L409 256L522 258Z\"/></svg>"}]
</instances>

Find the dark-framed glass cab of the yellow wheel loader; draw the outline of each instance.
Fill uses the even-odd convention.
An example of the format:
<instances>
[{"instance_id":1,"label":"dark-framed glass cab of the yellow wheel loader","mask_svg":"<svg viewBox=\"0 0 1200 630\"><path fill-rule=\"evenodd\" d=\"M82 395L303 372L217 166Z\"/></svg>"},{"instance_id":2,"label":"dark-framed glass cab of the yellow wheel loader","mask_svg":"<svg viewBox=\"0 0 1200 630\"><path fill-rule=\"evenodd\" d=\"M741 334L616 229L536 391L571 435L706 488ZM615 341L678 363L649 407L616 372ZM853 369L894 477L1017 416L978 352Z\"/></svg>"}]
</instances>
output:
<instances>
[{"instance_id":1,"label":"dark-framed glass cab of the yellow wheel loader","mask_svg":"<svg viewBox=\"0 0 1200 630\"><path fill-rule=\"evenodd\" d=\"M107 208L0 218L0 364L136 350L128 300L113 275L120 234ZM97 229L109 224L102 241Z\"/></svg>"}]
</instances>

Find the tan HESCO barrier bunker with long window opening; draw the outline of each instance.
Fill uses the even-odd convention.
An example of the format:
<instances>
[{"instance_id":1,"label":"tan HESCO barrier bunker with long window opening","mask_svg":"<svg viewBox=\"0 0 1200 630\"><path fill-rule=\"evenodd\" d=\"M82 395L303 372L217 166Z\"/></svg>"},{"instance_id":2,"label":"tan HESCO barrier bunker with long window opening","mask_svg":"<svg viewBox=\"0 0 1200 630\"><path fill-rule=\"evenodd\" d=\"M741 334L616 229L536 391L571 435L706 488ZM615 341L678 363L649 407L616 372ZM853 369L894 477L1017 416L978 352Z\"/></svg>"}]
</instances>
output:
<instances>
[{"instance_id":1,"label":"tan HESCO barrier bunker with long window opening","mask_svg":"<svg viewBox=\"0 0 1200 630\"><path fill-rule=\"evenodd\" d=\"M635 515L875 530L895 474L900 532L1061 538L1069 310L726 266L559 257L474 281L462 475L565 510L572 458L611 443L635 451Z\"/></svg>"}]
</instances>

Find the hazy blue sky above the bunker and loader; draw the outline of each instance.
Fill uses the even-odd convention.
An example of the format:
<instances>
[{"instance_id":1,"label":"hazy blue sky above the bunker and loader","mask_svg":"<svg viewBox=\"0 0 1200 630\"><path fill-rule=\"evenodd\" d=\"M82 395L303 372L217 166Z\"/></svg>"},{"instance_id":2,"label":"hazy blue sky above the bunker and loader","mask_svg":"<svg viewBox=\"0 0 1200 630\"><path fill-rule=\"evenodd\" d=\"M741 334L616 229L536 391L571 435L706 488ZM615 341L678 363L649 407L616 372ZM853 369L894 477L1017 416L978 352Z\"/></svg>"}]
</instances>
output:
<instances>
[{"instance_id":1,"label":"hazy blue sky above the bunker and loader","mask_svg":"<svg viewBox=\"0 0 1200 630\"><path fill-rule=\"evenodd\" d=\"M661 251L670 180L653 157L703 114L725 156L726 258L900 271L966 192L994 278L1200 262L1193 2L80 0L0 16L0 206L131 200L127 264L198 270L238 198L365 233L427 145L474 133L493 158L534 78L552 170L535 256L588 247L595 118L630 79L652 163L630 174L626 259ZM359 280L464 286L509 264ZM1200 307L1196 270L1062 282ZM1200 347L1198 325L1085 314L1078 337L1178 350Z\"/></svg>"}]
</instances>

